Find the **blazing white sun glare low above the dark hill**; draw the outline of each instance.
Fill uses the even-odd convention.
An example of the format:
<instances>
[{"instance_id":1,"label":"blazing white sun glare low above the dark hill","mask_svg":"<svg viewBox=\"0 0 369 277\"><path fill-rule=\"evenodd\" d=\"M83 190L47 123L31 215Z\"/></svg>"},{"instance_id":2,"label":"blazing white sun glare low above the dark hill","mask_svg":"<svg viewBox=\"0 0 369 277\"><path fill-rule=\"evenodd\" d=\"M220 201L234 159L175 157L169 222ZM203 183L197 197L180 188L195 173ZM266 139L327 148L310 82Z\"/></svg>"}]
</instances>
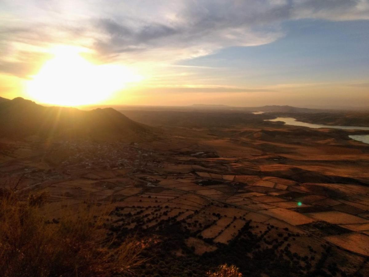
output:
<instances>
[{"instance_id":1,"label":"blazing white sun glare low above the dark hill","mask_svg":"<svg viewBox=\"0 0 369 277\"><path fill-rule=\"evenodd\" d=\"M142 76L123 65L94 65L80 54L81 48L62 46L52 50L37 75L27 82L27 93L37 102L60 106L99 103L127 83Z\"/></svg>"}]
</instances>

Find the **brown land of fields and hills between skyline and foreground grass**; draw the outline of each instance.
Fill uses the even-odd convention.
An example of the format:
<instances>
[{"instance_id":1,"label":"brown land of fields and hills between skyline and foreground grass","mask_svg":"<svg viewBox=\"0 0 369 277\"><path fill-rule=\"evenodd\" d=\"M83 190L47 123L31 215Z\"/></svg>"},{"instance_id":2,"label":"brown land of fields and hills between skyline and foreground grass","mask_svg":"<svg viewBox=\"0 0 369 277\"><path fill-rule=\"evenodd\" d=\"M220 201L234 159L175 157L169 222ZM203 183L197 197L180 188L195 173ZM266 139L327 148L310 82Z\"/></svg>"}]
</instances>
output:
<instances>
[{"instance_id":1,"label":"brown land of fields and hills between skyline and foreground grass","mask_svg":"<svg viewBox=\"0 0 369 277\"><path fill-rule=\"evenodd\" d=\"M110 235L146 242L137 276L224 263L244 276L368 276L369 144L348 135L369 131L264 121L275 108L121 112L4 100L1 184L47 193L50 220L86 199L114 207ZM355 116L339 122L369 126Z\"/></svg>"}]
</instances>

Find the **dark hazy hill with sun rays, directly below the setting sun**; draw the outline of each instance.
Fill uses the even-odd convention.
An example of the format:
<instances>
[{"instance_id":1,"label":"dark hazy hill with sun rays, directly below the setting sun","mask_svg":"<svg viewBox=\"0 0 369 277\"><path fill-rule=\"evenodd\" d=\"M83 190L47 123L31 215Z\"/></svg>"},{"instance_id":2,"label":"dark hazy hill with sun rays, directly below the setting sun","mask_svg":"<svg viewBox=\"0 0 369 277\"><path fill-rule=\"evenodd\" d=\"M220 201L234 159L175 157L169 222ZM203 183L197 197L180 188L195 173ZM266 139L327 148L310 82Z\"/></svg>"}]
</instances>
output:
<instances>
[{"instance_id":1,"label":"dark hazy hill with sun rays, directly below the setting sun","mask_svg":"<svg viewBox=\"0 0 369 277\"><path fill-rule=\"evenodd\" d=\"M82 111L70 107L45 107L23 98L0 103L0 133L4 137L89 138L142 141L152 136L150 127L112 109Z\"/></svg>"}]
</instances>

